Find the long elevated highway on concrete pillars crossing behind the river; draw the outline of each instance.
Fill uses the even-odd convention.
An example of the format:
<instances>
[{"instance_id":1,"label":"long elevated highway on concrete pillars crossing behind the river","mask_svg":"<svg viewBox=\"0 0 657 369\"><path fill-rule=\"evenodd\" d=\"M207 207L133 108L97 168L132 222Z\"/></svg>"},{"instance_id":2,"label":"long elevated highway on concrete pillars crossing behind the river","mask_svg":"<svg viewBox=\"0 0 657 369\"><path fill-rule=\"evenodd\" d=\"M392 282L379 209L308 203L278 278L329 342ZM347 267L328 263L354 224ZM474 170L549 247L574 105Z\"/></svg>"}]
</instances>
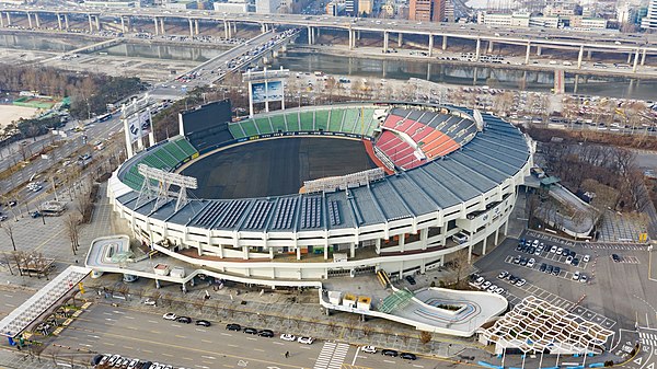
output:
<instances>
[{"instance_id":1,"label":"long elevated highway on concrete pillars crossing behind the river","mask_svg":"<svg viewBox=\"0 0 657 369\"><path fill-rule=\"evenodd\" d=\"M424 35L427 37L428 56L439 48L446 50L449 39L465 41L473 44L476 59L485 53L493 51L496 45L514 45L526 49L525 64L530 64L531 55L541 55L545 49L570 50L577 55L577 67L581 68L585 53L588 58L592 53L610 53L626 55L627 64L636 72L637 66L646 64L648 56L657 56L657 35L576 32L554 28L488 28L477 24L426 23L403 20L376 20L324 15L300 14L255 14L255 13L216 13L206 10L169 10L161 8L83 8L59 7L36 8L30 5L0 5L0 27L12 26L18 18L26 19L30 28L43 28L44 18L56 20L56 30L69 30L69 18L83 19L89 23L89 33L101 31L103 24L120 24L124 33L132 30L136 22L152 24L155 35L165 35L165 22L188 24L189 35L200 33L199 24L223 27L226 38L237 33L238 25L260 26L265 33L273 27L297 27L306 30L308 43L314 44L320 33L325 30L345 32L348 36L349 49L358 47L361 33L379 34L383 38L382 51L388 51L390 37L396 35L401 45L405 35Z\"/></svg>"}]
</instances>

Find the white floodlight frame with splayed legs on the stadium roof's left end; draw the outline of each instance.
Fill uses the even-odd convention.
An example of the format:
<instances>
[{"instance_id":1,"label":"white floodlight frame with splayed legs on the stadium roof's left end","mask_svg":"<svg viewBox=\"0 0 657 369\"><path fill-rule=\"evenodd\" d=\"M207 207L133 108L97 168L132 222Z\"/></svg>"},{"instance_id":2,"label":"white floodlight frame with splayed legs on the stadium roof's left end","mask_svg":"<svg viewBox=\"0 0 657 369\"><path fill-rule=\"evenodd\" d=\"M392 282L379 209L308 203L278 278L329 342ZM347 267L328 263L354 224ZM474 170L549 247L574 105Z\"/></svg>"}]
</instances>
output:
<instances>
[{"instance_id":1,"label":"white floodlight frame with splayed legs on the stadium roof's left end","mask_svg":"<svg viewBox=\"0 0 657 369\"><path fill-rule=\"evenodd\" d=\"M165 172L146 164L139 164L138 170L139 174L143 175L143 183L141 184L136 207L154 199L155 203L153 204L152 211L155 211L162 205L166 204L170 198L176 198L175 211L178 211L187 204L187 188L198 188L198 183L193 176ZM180 187L177 193L171 191L172 185Z\"/></svg>"}]
</instances>

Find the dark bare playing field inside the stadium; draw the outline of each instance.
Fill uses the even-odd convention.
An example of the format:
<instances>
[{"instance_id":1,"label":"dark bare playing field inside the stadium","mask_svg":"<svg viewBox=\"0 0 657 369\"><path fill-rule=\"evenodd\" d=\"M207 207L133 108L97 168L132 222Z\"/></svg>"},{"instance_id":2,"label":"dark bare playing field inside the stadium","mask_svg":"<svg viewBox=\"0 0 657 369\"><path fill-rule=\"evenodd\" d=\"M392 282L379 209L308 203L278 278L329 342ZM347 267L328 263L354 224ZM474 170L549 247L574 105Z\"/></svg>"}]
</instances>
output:
<instances>
[{"instance_id":1,"label":"dark bare playing field inside the stadium","mask_svg":"<svg viewBox=\"0 0 657 369\"><path fill-rule=\"evenodd\" d=\"M256 141L210 155L183 171L198 180L199 198L297 194L303 181L376 168L360 141L281 138Z\"/></svg>"}]
</instances>

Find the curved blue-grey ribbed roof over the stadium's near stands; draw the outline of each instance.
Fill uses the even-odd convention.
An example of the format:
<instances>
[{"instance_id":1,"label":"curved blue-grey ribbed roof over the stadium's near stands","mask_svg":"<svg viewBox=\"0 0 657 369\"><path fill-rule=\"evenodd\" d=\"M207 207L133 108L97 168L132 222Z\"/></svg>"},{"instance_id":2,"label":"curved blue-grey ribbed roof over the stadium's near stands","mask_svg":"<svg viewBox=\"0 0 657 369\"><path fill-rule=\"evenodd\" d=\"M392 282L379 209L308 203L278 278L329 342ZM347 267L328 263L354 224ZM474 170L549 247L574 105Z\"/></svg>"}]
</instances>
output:
<instances>
[{"instance_id":1,"label":"curved blue-grey ribbed roof over the stadium's near stands","mask_svg":"<svg viewBox=\"0 0 657 369\"><path fill-rule=\"evenodd\" d=\"M485 129L447 157L348 191L195 199L177 212L171 201L152 212L150 203L135 210L185 227L269 232L356 228L426 215L502 185L530 159L530 149L518 128L491 115L484 115L484 119ZM118 200L135 208L137 195L129 192Z\"/></svg>"}]
</instances>

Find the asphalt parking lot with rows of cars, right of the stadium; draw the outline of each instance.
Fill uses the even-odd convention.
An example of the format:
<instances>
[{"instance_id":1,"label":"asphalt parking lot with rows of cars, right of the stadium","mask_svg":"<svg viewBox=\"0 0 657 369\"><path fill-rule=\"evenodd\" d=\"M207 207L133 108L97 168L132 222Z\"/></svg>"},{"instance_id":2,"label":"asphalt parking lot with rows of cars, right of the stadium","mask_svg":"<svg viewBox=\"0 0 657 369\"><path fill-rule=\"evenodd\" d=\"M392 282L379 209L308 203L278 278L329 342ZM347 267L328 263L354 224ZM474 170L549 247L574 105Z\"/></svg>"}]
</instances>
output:
<instances>
[{"instance_id":1,"label":"asphalt parking lot with rows of cars, right of the stadium","mask_svg":"<svg viewBox=\"0 0 657 369\"><path fill-rule=\"evenodd\" d=\"M520 238L532 246L538 240L543 247L519 250L519 240L507 239L475 263L481 276L504 289L503 296L511 305L532 295L607 328L633 330L636 322L644 326L657 324L657 309L653 308L657 307L657 296L652 293L654 286L647 278L647 247L574 242L535 231L526 231ZM573 265L575 258L579 260L577 265ZM516 280L509 276L497 278L504 270ZM525 282L518 286L520 279Z\"/></svg>"}]
</instances>

